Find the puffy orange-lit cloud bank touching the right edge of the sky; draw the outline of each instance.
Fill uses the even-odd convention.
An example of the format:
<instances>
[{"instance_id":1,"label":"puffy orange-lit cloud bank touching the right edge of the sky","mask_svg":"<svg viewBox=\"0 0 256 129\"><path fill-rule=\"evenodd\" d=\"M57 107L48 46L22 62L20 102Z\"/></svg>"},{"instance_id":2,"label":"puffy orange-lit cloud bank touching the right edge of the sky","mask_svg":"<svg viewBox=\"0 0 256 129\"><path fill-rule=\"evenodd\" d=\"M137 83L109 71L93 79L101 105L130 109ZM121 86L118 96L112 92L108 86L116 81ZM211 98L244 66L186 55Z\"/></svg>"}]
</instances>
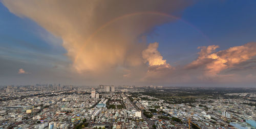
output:
<instances>
[{"instance_id":1,"label":"puffy orange-lit cloud bank touching the right edge of the sky","mask_svg":"<svg viewBox=\"0 0 256 129\"><path fill-rule=\"evenodd\" d=\"M223 70L234 68L242 62L250 60L256 55L256 43L249 42L243 46L231 47L214 52L219 46L200 47L197 60L194 60L186 69L203 68L205 74L214 76Z\"/></svg>"}]
</instances>

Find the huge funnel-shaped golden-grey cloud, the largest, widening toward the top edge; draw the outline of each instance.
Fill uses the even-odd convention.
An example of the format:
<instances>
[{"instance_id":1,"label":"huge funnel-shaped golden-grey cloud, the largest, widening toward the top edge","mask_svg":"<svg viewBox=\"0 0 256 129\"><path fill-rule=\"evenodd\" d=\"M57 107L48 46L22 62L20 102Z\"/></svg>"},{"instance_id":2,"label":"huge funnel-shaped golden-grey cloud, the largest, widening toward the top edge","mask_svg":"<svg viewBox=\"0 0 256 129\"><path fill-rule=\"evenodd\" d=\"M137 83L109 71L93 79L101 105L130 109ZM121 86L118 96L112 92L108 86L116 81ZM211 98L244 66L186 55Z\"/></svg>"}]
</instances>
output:
<instances>
[{"instance_id":1,"label":"huge funnel-shaped golden-grey cloud, the largest, widening toward the top edge","mask_svg":"<svg viewBox=\"0 0 256 129\"><path fill-rule=\"evenodd\" d=\"M116 66L139 66L143 33L169 22L146 13L176 13L183 1L3 1L14 14L28 17L63 40L80 73L98 73ZM145 12L145 13L143 13Z\"/></svg>"}]
</instances>

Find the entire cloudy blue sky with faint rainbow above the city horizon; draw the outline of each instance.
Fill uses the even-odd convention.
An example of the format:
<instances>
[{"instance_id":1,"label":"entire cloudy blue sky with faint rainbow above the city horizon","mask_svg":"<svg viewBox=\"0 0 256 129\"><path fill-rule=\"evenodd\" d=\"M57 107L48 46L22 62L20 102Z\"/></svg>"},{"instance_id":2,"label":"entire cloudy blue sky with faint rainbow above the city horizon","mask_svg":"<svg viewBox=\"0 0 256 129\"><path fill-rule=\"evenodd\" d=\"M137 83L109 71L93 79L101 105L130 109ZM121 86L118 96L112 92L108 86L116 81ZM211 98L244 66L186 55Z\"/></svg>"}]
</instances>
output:
<instances>
[{"instance_id":1,"label":"entire cloudy blue sky with faint rainbow above the city horizon","mask_svg":"<svg viewBox=\"0 0 256 129\"><path fill-rule=\"evenodd\" d=\"M256 87L256 1L0 1L0 85Z\"/></svg>"}]
</instances>

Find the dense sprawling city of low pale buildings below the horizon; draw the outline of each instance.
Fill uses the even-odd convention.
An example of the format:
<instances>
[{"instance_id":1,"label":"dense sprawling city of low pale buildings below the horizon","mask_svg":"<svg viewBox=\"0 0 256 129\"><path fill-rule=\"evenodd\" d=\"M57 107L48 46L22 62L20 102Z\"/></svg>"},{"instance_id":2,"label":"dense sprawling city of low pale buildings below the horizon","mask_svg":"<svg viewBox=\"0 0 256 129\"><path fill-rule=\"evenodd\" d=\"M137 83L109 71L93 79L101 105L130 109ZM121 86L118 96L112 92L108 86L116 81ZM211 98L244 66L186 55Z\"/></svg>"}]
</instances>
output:
<instances>
[{"instance_id":1,"label":"dense sprawling city of low pale buildings below the horizon","mask_svg":"<svg viewBox=\"0 0 256 129\"><path fill-rule=\"evenodd\" d=\"M1 87L0 128L256 128L255 88Z\"/></svg>"}]
</instances>

